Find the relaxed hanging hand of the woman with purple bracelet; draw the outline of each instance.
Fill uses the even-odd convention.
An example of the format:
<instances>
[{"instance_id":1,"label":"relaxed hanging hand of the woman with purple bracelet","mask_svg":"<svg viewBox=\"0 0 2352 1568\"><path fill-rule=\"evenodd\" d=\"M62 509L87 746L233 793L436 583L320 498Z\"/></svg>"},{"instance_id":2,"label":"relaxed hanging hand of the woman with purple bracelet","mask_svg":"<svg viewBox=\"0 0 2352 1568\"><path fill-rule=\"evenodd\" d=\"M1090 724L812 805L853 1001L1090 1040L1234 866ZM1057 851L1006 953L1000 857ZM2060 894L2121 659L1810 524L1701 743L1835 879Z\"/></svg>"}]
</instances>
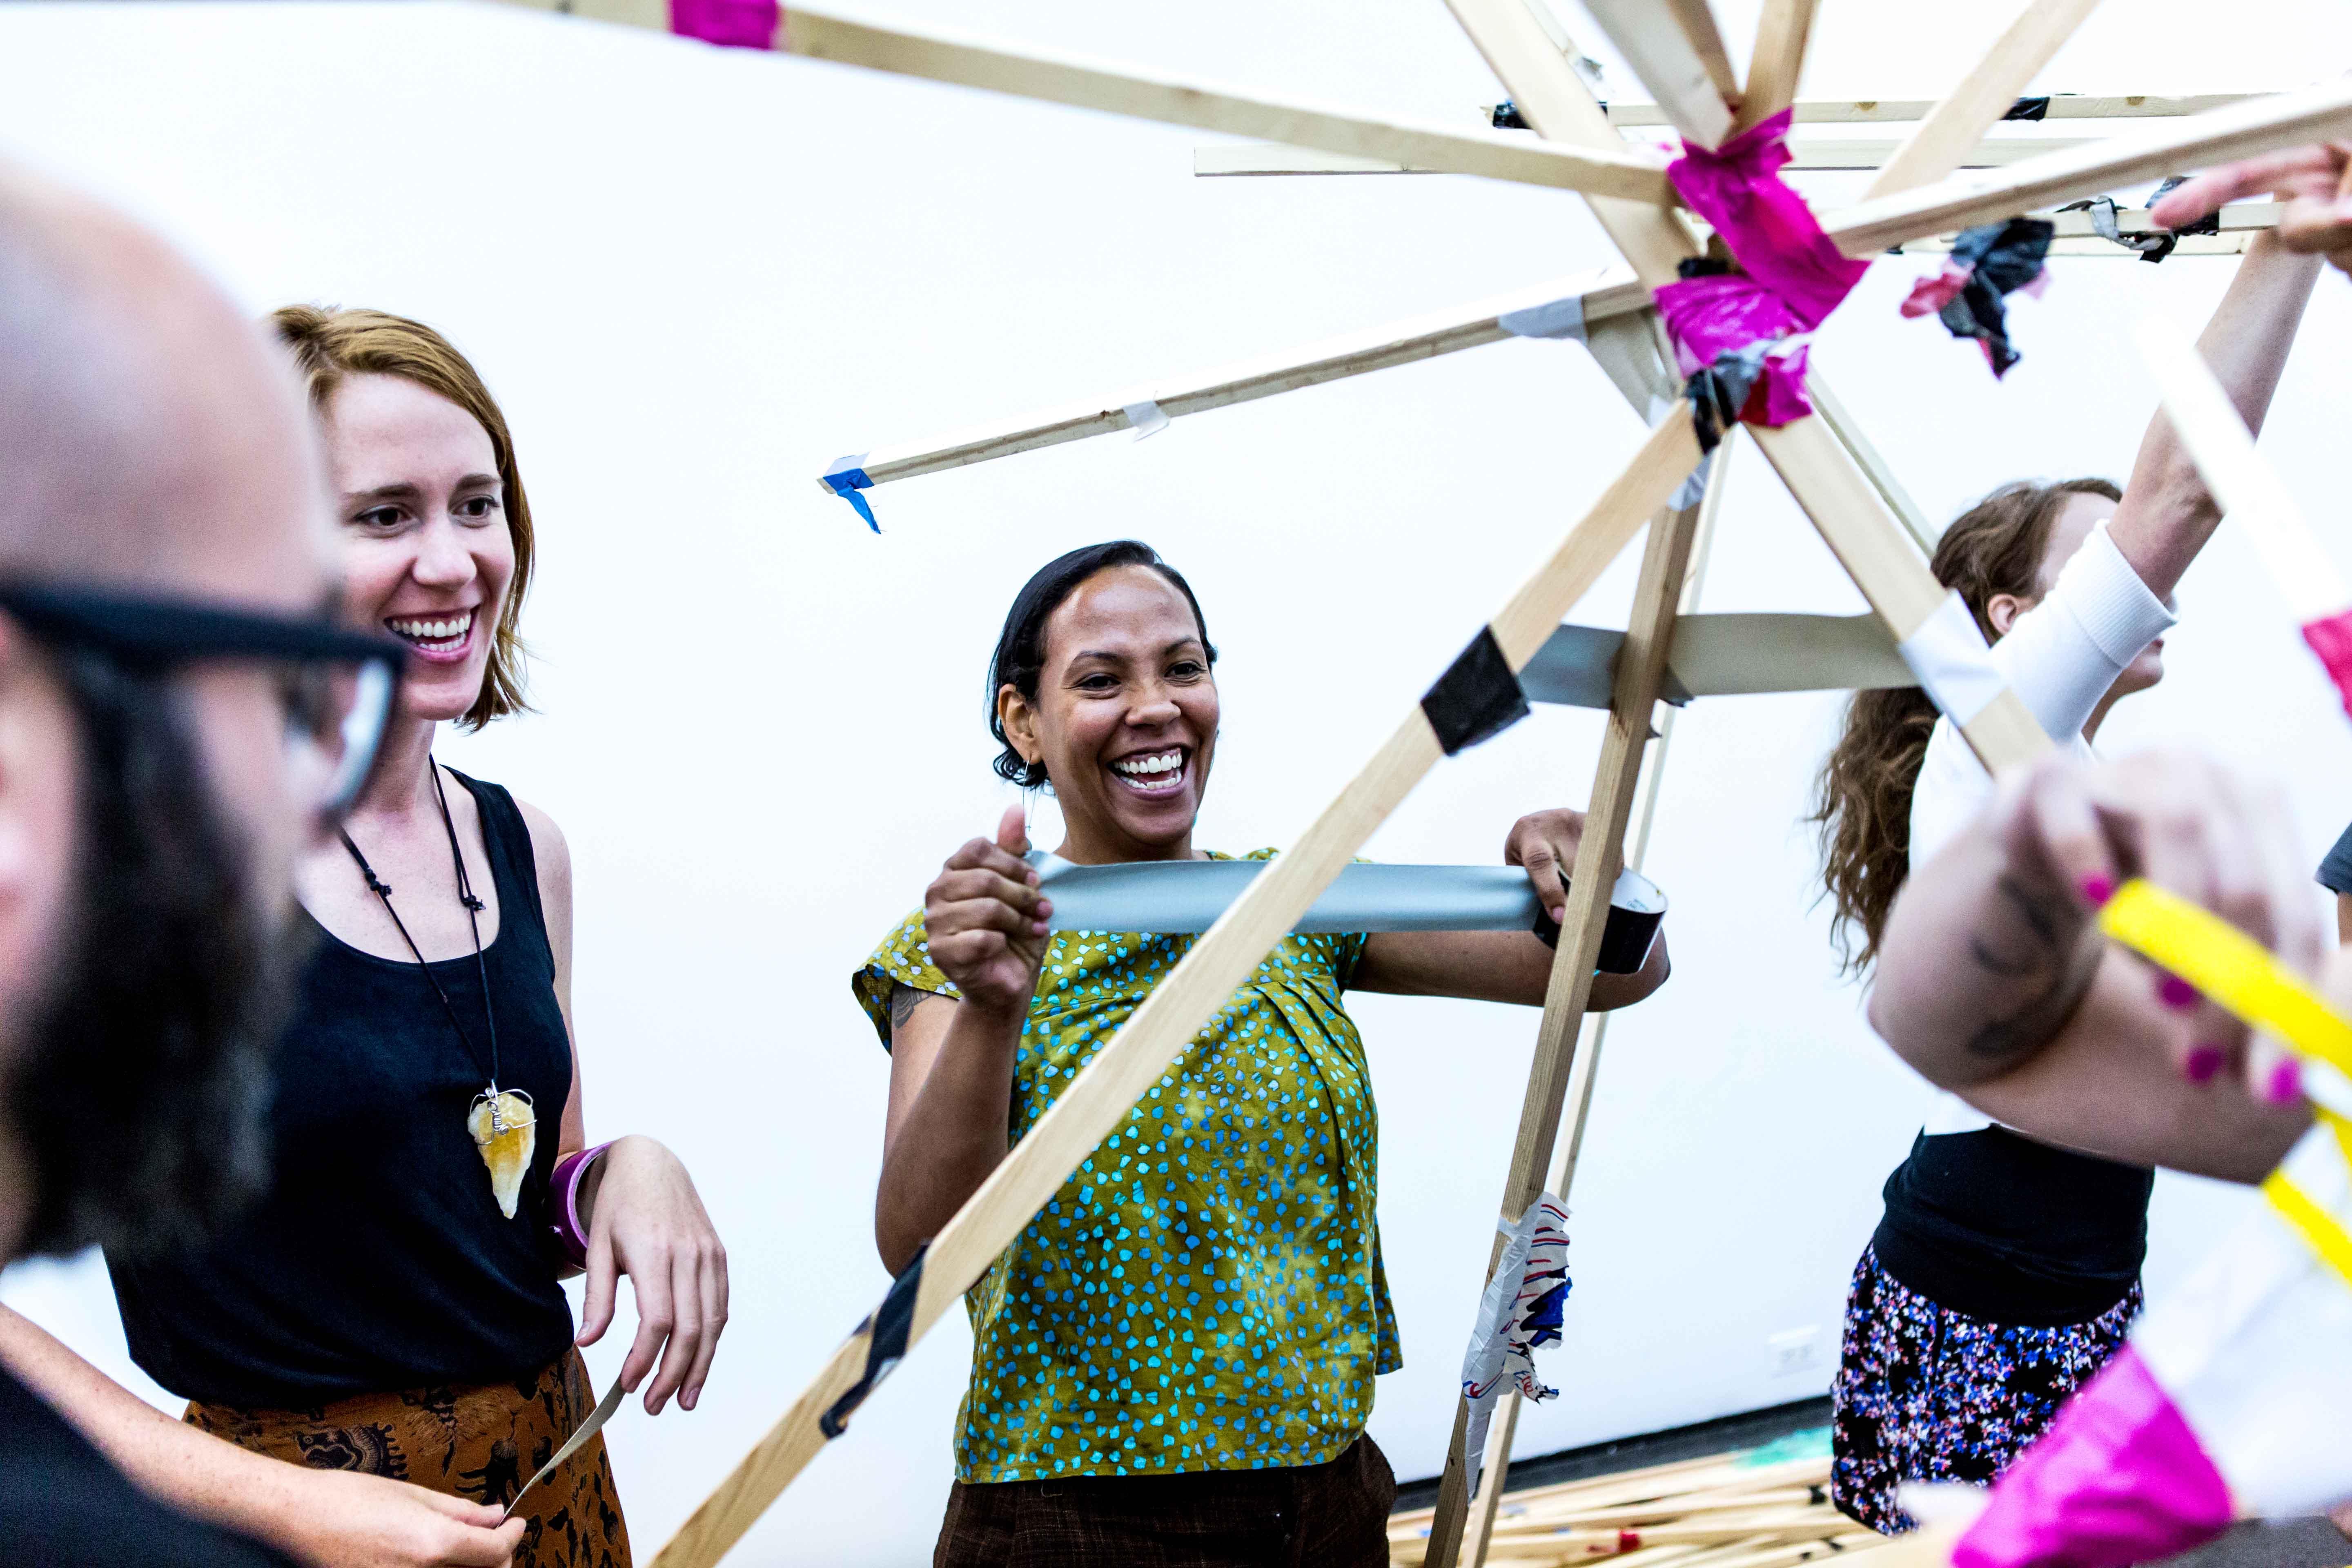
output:
<instances>
[{"instance_id":1,"label":"relaxed hanging hand of the woman with purple bracelet","mask_svg":"<svg viewBox=\"0 0 2352 1568\"><path fill-rule=\"evenodd\" d=\"M670 1394L691 1410L727 1328L727 1248L710 1229L694 1178L652 1138L621 1138L583 1178L581 1206L588 1211L588 1298L579 1342L604 1338L621 1274L628 1274L637 1340L621 1361L621 1385L637 1387L661 1356L661 1375L644 1389L644 1413L659 1415Z\"/></svg>"}]
</instances>

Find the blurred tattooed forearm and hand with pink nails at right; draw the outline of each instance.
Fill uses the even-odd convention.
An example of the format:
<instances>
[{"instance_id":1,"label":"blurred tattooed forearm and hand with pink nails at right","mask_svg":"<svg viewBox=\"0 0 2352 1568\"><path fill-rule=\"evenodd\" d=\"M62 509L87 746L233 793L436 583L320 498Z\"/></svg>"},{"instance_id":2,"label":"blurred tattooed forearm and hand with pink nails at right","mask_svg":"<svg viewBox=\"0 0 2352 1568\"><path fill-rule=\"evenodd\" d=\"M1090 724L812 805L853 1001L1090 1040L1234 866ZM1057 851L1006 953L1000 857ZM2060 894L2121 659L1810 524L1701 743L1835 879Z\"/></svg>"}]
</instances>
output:
<instances>
[{"instance_id":1,"label":"blurred tattooed forearm and hand with pink nails at right","mask_svg":"<svg viewBox=\"0 0 2352 1568\"><path fill-rule=\"evenodd\" d=\"M1912 872L1870 1023L1931 1081L2037 1138L2256 1180L2305 1126L2296 1070L2098 933L2124 877L2319 969L2324 926L2274 792L2190 755L2053 755Z\"/></svg>"}]
</instances>

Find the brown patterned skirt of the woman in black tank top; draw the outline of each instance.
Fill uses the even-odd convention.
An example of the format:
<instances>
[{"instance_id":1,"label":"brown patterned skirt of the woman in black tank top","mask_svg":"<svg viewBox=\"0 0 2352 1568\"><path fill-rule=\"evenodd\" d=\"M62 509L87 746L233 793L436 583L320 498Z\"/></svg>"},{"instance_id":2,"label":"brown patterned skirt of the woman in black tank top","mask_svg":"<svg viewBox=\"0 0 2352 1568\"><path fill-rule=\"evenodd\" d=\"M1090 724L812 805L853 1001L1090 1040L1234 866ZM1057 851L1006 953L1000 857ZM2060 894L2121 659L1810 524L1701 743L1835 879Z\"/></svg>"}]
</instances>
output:
<instances>
[{"instance_id":1,"label":"brown patterned skirt of the woman in black tank top","mask_svg":"<svg viewBox=\"0 0 2352 1568\"><path fill-rule=\"evenodd\" d=\"M588 1368L567 1349L517 1382L360 1394L308 1410L191 1403L181 1420L289 1465L365 1469L506 1507L593 1408ZM602 1434L539 1483L522 1516L529 1526L515 1568L630 1568Z\"/></svg>"}]
</instances>

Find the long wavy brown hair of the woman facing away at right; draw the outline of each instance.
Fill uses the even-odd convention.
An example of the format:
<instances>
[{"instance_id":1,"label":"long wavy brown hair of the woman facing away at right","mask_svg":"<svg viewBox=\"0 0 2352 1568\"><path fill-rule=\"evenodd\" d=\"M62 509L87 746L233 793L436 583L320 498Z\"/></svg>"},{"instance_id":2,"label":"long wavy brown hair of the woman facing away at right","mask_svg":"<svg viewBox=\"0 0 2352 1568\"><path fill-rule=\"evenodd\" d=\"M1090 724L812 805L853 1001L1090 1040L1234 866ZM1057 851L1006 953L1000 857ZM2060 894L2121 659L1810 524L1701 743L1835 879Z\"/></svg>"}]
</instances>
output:
<instances>
[{"instance_id":1,"label":"long wavy brown hair of the woman facing away at right","mask_svg":"<svg viewBox=\"0 0 2352 1568\"><path fill-rule=\"evenodd\" d=\"M2051 527L2074 496L2122 501L2124 491L2107 480L2004 484L1938 541L1929 567L1938 583L1959 590L1987 642L1999 637L1985 614L1994 597L2039 597ZM1919 686L1856 691L1846 733L1820 769L1806 820L1820 827L1820 875L1837 907L1830 931L1849 973L1879 954L1886 912L1910 875L1910 799L1933 731L1936 703Z\"/></svg>"}]
</instances>

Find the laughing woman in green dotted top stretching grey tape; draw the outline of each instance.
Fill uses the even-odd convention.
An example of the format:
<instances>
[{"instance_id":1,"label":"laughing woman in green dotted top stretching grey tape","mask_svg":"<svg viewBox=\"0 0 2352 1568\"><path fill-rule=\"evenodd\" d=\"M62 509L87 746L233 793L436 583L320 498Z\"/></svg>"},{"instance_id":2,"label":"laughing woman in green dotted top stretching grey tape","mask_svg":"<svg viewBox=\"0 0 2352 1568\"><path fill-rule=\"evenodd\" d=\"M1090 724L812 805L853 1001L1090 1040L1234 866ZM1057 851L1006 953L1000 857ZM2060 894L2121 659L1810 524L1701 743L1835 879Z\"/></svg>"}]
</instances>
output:
<instances>
[{"instance_id":1,"label":"laughing woman in green dotted top stretching grey tape","mask_svg":"<svg viewBox=\"0 0 2352 1568\"><path fill-rule=\"evenodd\" d=\"M1061 858L1204 858L1218 698L1200 604L1141 543L1073 550L990 668L997 771L1051 783ZM1503 858L1564 907L1583 813ZM1021 811L931 882L856 976L891 1048L875 1239L898 1272L1035 1126L1188 936L1047 933ZM1258 851L1251 858L1265 858ZM1536 1006L1531 933L1291 936L967 1295L971 1389L936 1563L1388 1563L1364 1436L1399 1366L1374 1220L1378 1117L1343 990ZM1592 1006L1665 980L1665 940Z\"/></svg>"}]
</instances>

